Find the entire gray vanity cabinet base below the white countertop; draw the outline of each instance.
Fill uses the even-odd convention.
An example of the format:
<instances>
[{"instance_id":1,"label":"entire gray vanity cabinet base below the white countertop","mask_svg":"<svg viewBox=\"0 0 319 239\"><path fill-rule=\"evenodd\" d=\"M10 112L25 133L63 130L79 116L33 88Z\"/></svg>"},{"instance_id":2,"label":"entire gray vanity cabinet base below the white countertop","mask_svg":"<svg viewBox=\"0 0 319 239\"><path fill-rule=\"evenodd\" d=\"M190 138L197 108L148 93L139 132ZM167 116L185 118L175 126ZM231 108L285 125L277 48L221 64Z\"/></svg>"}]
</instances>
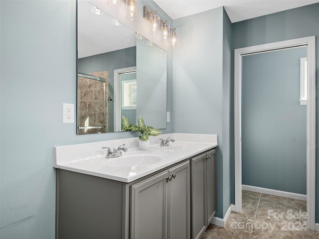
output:
<instances>
[{"instance_id":1,"label":"entire gray vanity cabinet base below the white countertop","mask_svg":"<svg viewBox=\"0 0 319 239\"><path fill-rule=\"evenodd\" d=\"M56 239L199 238L215 213L214 153L130 183L57 169Z\"/></svg>"}]
</instances>

